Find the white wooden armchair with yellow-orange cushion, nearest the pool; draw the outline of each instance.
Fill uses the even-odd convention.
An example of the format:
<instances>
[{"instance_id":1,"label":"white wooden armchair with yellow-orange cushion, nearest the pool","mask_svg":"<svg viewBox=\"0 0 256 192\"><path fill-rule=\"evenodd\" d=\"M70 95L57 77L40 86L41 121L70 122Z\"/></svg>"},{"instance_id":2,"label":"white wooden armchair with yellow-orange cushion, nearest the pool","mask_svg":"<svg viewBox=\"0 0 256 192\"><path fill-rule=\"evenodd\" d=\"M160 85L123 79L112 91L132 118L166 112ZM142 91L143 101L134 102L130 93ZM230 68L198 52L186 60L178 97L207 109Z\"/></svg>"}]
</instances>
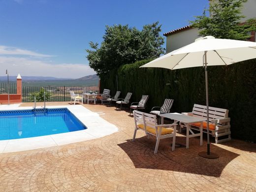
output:
<instances>
[{"instance_id":1,"label":"white wooden armchair with yellow-orange cushion, nearest the pool","mask_svg":"<svg viewBox=\"0 0 256 192\"><path fill-rule=\"evenodd\" d=\"M146 135L153 135L157 137L157 143L154 154L158 153L160 139L165 139L169 137L173 137L172 151L174 151L177 124L158 125L156 115L143 113L137 110L133 111L133 117L135 122L135 129L132 141L135 141L136 132L138 129L140 129L145 131Z\"/></svg>"}]
</instances>

